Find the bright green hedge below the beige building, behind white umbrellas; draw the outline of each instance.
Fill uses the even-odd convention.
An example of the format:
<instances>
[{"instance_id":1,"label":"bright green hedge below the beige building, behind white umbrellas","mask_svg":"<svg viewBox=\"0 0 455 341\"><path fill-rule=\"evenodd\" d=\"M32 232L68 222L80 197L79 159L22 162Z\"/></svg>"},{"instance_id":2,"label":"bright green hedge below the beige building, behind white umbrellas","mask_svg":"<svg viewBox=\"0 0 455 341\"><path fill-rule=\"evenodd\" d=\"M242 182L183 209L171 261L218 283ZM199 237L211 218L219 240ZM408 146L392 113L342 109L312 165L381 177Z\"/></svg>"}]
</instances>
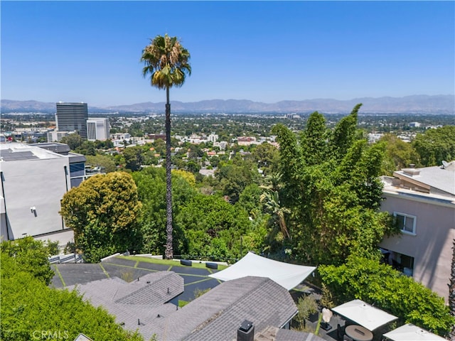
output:
<instances>
[{"instance_id":1,"label":"bright green hedge below the beige building, behind white umbrellas","mask_svg":"<svg viewBox=\"0 0 455 341\"><path fill-rule=\"evenodd\" d=\"M319 266L323 283L336 303L355 298L439 335L446 335L455 323L444 299L429 288L404 276L377 259L350 256L341 266Z\"/></svg>"}]
</instances>

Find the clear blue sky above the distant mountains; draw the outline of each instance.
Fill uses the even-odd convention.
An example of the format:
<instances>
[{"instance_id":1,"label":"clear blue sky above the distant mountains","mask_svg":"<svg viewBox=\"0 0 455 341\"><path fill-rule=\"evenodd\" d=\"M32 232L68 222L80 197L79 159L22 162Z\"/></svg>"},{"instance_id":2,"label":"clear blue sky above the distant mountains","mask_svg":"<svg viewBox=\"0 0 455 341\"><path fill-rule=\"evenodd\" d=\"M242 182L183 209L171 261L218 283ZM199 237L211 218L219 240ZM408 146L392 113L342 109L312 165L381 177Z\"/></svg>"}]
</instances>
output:
<instances>
[{"instance_id":1,"label":"clear blue sky above the distant mountains","mask_svg":"<svg viewBox=\"0 0 455 341\"><path fill-rule=\"evenodd\" d=\"M171 100L455 93L455 1L0 1L1 99L164 102L141 75L177 36L192 74Z\"/></svg>"}]
</instances>

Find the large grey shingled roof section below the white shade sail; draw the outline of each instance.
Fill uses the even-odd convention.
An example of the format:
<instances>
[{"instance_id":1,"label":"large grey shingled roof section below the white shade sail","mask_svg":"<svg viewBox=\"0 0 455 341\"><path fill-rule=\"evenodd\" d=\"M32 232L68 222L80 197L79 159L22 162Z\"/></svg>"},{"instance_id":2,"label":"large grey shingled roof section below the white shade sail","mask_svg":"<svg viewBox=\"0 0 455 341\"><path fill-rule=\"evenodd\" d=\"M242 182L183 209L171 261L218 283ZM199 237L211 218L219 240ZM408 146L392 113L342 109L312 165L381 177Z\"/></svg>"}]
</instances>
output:
<instances>
[{"instance_id":1,"label":"large grey shingled roof section below the white shade sail","mask_svg":"<svg viewBox=\"0 0 455 341\"><path fill-rule=\"evenodd\" d=\"M281 328L297 313L289 291L269 278L221 283L166 318L159 340L235 340L244 320L255 330Z\"/></svg>"}]
</instances>

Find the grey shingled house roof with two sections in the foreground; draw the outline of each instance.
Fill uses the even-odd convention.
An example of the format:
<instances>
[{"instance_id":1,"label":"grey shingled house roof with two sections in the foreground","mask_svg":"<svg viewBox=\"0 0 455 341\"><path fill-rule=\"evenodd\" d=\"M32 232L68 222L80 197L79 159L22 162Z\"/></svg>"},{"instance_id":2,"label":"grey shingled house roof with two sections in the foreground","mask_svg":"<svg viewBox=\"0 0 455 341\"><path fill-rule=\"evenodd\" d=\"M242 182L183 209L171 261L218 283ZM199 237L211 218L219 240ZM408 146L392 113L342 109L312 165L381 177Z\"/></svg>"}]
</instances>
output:
<instances>
[{"instance_id":1,"label":"grey shingled house roof with two sections in the foreground","mask_svg":"<svg viewBox=\"0 0 455 341\"><path fill-rule=\"evenodd\" d=\"M123 328L138 330L146 340L154 335L156 340L236 340L245 320L252 322L253 333L270 326L277 333L289 330L297 313L289 291L265 277L226 281L183 308L174 305L183 292L183 278L172 271L147 274L131 283L105 278L68 288L107 309ZM281 340L287 340L286 335ZM311 338L314 335L299 336L319 340Z\"/></svg>"}]
</instances>

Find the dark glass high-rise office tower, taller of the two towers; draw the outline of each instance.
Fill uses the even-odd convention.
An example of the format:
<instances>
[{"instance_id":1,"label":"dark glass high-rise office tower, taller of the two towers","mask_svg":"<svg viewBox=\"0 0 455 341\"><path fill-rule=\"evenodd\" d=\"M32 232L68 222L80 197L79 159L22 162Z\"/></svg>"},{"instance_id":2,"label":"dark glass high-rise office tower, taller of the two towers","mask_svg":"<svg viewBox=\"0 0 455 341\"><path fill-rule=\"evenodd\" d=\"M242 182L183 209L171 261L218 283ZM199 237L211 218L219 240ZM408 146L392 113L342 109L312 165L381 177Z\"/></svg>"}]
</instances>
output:
<instances>
[{"instance_id":1,"label":"dark glass high-rise office tower, taller of the two towers","mask_svg":"<svg viewBox=\"0 0 455 341\"><path fill-rule=\"evenodd\" d=\"M77 131L82 139L87 139L87 103L58 102L55 123L58 131Z\"/></svg>"}]
</instances>

